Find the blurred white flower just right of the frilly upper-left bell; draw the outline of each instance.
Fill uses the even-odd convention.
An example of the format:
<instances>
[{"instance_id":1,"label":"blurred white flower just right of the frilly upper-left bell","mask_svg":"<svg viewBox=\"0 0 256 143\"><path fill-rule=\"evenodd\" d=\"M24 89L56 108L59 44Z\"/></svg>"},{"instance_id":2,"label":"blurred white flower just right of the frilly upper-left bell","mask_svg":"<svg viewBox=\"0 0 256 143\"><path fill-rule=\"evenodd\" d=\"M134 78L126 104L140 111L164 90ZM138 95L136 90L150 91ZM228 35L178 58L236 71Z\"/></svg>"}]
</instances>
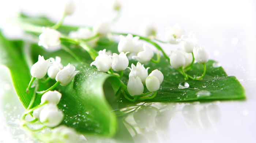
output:
<instances>
[{"instance_id":1,"label":"blurred white flower just right of the frilly upper-left bell","mask_svg":"<svg viewBox=\"0 0 256 143\"><path fill-rule=\"evenodd\" d=\"M88 27L85 27L85 28L82 27L82 28L79 28L77 31L71 31L69 32L68 35L72 38L78 38L78 39L88 39L95 36L93 31L91 31ZM91 47L95 47L98 39L99 38L94 38L90 41L86 41L86 43Z\"/></svg>"}]
</instances>

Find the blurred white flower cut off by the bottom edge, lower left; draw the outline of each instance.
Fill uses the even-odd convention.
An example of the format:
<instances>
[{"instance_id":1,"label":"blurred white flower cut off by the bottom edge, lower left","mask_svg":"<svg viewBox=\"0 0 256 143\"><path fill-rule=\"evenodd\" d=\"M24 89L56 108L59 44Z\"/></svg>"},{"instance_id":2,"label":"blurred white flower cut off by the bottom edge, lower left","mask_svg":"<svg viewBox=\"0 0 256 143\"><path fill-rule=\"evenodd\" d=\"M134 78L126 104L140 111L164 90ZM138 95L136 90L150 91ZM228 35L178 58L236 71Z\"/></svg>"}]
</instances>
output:
<instances>
[{"instance_id":1,"label":"blurred white flower cut off by the bottom edge, lower left","mask_svg":"<svg viewBox=\"0 0 256 143\"><path fill-rule=\"evenodd\" d=\"M53 128L52 138L53 140L58 140L61 143L76 143L79 139L76 131L73 128L65 125L60 125L59 127Z\"/></svg>"}]
</instances>

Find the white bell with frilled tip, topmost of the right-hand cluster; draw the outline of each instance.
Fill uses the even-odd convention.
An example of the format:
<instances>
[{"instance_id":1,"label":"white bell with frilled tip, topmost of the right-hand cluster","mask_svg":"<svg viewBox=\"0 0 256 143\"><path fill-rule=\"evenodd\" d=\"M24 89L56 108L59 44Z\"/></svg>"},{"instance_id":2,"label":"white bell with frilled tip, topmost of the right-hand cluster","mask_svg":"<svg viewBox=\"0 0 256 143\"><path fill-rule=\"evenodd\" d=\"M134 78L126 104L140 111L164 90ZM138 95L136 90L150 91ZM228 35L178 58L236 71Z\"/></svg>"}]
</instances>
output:
<instances>
[{"instance_id":1,"label":"white bell with frilled tip, topmost of the right-hand cluster","mask_svg":"<svg viewBox=\"0 0 256 143\"><path fill-rule=\"evenodd\" d=\"M195 34L192 32L189 32L188 36L182 36L180 42L181 48L187 53L192 53L194 47L199 46Z\"/></svg>"}]
</instances>

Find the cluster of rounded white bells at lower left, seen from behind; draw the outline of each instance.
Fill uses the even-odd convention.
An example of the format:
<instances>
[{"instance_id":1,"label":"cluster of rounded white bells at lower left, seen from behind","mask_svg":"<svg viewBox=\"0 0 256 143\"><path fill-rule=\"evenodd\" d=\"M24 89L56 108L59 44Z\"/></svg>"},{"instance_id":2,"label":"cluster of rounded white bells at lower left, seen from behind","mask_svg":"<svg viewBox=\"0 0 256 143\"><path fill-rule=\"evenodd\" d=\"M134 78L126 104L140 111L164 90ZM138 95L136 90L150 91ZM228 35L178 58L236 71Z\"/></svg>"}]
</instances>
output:
<instances>
[{"instance_id":1,"label":"cluster of rounded white bells at lower left, seen from behind","mask_svg":"<svg viewBox=\"0 0 256 143\"><path fill-rule=\"evenodd\" d=\"M63 120L63 112L59 110L57 104L61 98L61 93L54 90L43 94L41 104L45 104L33 111L34 119L38 119L47 127L56 127Z\"/></svg>"}]
</instances>

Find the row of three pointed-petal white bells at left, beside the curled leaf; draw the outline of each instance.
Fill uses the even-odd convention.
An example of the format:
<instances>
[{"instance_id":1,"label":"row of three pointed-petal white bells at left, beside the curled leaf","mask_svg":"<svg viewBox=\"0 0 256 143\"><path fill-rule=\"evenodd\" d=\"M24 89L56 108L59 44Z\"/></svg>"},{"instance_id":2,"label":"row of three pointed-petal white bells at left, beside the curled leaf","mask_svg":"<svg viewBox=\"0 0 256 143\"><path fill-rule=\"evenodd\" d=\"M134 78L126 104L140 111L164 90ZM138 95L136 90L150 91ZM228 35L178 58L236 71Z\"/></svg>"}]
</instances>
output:
<instances>
[{"instance_id":1,"label":"row of three pointed-petal white bells at left, beside the curled leaf","mask_svg":"<svg viewBox=\"0 0 256 143\"><path fill-rule=\"evenodd\" d=\"M60 82L60 85L63 86L69 84L78 72L75 71L75 67L71 66L70 63L63 68L60 57L45 60L44 56L41 55L38 55L38 61L30 69L33 77L41 79L47 73L50 78Z\"/></svg>"}]
</instances>

